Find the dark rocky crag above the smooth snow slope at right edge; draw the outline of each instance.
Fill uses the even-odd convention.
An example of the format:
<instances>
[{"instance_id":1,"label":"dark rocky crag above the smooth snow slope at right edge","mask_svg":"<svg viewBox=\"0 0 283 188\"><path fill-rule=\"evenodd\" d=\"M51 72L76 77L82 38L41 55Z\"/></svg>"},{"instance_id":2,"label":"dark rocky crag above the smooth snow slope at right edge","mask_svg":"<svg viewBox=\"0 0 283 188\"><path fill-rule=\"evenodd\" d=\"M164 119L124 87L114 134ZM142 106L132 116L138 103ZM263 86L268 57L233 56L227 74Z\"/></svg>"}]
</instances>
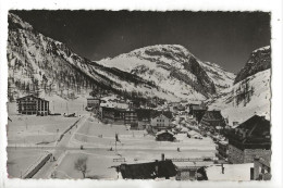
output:
<instances>
[{"instance_id":1,"label":"dark rocky crag above the smooth snow slope at right edge","mask_svg":"<svg viewBox=\"0 0 283 188\"><path fill-rule=\"evenodd\" d=\"M258 72L271 67L271 49L270 46L254 50L246 63L246 65L237 73L234 83L238 83L246 77L254 75Z\"/></svg>"}]
</instances>

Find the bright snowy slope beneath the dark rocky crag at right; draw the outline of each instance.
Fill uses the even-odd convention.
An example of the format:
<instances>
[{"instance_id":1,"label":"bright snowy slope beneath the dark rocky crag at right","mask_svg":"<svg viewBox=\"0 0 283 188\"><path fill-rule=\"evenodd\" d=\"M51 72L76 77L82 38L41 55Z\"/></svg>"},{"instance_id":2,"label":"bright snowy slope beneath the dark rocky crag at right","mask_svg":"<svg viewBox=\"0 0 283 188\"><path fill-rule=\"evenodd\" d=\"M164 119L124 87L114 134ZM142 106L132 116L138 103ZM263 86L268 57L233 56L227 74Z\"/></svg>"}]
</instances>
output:
<instances>
[{"instance_id":1,"label":"bright snowy slope beneath the dark rocky crag at right","mask_svg":"<svg viewBox=\"0 0 283 188\"><path fill-rule=\"evenodd\" d=\"M270 120L270 70L259 72L223 90L223 96L211 101L209 110L221 110L230 125L242 123L254 114Z\"/></svg>"}]
</instances>

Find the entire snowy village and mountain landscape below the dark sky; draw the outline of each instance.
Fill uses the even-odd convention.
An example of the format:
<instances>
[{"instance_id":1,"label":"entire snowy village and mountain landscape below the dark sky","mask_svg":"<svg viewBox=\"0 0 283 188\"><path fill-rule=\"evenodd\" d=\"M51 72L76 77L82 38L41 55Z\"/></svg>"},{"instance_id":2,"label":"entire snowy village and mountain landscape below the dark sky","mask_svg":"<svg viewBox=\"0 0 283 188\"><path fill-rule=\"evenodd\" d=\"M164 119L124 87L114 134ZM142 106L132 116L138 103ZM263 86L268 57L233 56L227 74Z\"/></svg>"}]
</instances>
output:
<instances>
[{"instance_id":1,"label":"entire snowy village and mountain landscape below the dark sky","mask_svg":"<svg viewBox=\"0 0 283 188\"><path fill-rule=\"evenodd\" d=\"M10 178L271 178L269 46L236 75L180 45L90 61L9 13L7 57Z\"/></svg>"}]
</instances>

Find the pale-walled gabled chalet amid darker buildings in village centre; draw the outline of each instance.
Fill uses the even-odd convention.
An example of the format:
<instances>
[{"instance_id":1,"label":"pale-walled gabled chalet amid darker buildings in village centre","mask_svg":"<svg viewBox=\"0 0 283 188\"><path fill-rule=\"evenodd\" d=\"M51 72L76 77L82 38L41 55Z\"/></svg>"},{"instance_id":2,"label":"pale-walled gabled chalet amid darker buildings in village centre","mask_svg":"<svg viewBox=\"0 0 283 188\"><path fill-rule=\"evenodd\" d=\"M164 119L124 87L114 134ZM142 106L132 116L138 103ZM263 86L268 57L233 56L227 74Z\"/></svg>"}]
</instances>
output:
<instances>
[{"instance_id":1,"label":"pale-walled gabled chalet amid darker buildings in village centre","mask_svg":"<svg viewBox=\"0 0 283 188\"><path fill-rule=\"evenodd\" d=\"M150 121L150 125L152 128L157 130L171 128L171 121L173 115L170 111L156 111L152 112L152 117Z\"/></svg>"}]
</instances>

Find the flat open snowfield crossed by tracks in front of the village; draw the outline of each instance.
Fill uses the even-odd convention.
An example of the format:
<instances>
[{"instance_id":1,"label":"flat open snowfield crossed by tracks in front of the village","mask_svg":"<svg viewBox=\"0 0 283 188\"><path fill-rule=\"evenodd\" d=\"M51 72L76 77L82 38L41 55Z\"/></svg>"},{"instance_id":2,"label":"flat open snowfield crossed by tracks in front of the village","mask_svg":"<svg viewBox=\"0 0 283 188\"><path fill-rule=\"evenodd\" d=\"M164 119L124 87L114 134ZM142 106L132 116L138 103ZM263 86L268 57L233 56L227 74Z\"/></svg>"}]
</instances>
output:
<instances>
[{"instance_id":1,"label":"flat open snowfield crossed by tracks in front of the village","mask_svg":"<svg viewBox=\"0 0 283 188\"><path fill-rule=\"evenodd\" d=\"M9 105L10 110L14 109L14 103ZM82 104L78 106L81 109ZM9 177L23 177L47 153L52 153L56 161L48 161L33 178L83 178L82 173L74 167L79 158L87 158L87 177L115 179L118 173L111 166L123 163L114 162L115 159L125 159L126 163L142 163L160 160L161 153L167 159L216 155L211 138L199 140L180 134L180 141L176 142L156 141L153 136L144 130L102 124L86 111L79 112L77 117L9 114L12 120L8 125ZM60 135L74 123L76 126L58 141ZM115 134L121 140L116 146Z\"/></svg>"}]
</instances>

